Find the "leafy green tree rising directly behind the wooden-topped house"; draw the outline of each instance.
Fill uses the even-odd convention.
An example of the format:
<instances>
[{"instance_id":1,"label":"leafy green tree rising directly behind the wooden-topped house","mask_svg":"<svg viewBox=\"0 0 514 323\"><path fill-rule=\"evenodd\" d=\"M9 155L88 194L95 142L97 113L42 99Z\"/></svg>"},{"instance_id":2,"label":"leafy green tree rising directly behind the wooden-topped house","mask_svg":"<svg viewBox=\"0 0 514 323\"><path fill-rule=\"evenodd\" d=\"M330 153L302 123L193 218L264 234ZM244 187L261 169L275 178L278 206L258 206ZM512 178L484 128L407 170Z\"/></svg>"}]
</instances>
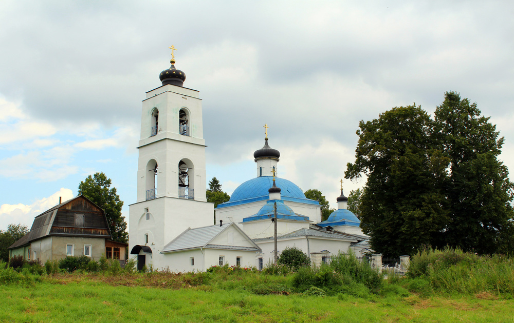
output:
<instances>
[{"instance_id":1,"label":"leafy green tree rising directly behind the wooden-topped house","mask_svg":"<svg viewBox=\"0 0 514 323\"><path fill-rule=\"evenodd\" d=\"M84 195L105 210L107 224L114 241L128 243L127 224L125 217L121 216L123 201L116 193L116 188L111 188L111 184L111 178L107 178L104 173L95 173L80 182L78 194Z\"/></svg>"}]
</instances>

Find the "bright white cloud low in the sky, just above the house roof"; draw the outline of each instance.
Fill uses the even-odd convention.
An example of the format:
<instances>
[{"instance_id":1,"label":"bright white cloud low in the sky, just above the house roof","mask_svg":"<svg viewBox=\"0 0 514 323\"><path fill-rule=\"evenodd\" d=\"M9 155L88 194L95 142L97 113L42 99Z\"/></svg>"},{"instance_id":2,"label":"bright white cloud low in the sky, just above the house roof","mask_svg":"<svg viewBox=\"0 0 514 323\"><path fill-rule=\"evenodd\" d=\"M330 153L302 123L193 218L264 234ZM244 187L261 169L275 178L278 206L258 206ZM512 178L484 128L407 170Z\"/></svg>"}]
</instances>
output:
<instances>
[{"instance_id":1,"label":"bright white cloud low in the sky, just above the house roof","mask_svg":"<svg viewBox=\"0 0 514 323\"><path fill-rule=\"evenodd\" d=\"M29 229L32 226L34 217L43 213L44 211L59 204L59 197L62 197L62 201L66 201L74 197L70 189L61 188L56 193L53 193L49 197L44 197L36 200L30 205L19 204L3 204L0 206L0 224L3 228L0 230L7 229L9 224L23 224Z\"/></svg>"}]
</instances>

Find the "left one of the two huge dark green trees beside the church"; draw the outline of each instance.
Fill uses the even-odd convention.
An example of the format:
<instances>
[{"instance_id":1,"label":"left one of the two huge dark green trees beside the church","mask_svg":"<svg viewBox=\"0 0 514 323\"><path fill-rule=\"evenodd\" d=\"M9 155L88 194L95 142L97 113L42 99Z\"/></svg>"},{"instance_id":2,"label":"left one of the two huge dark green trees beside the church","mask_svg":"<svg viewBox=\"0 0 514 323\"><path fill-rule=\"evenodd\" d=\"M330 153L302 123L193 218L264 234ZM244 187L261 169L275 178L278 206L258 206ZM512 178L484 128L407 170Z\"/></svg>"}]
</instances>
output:
<instances>
[{"instance_id":1,"label":"left one of the two huge dark green trees beside the church","mask_svg":"<svg viewBox=\"0 0 514 323\"><path fill-rule=\"evenodd\" d=\"M434 148L433 120L412 105L361 121L359 128L356 160L345 177L368 176L359 211L372 248L393 256L432 245L448 221L440 191L447 158Z\"/></svg>"}]
</instances>

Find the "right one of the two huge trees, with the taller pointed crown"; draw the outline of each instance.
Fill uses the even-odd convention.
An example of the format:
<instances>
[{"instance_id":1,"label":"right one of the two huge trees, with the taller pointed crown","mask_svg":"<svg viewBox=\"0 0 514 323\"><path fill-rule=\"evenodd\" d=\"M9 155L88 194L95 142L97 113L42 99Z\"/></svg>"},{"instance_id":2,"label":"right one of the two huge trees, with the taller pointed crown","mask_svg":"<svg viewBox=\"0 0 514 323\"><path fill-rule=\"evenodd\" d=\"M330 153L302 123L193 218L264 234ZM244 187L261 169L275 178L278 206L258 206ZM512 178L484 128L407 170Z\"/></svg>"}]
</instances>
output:
<instances>
[{"instance_id":1,"label":"right one of the two huge trees, with the taller pointed crown","mask_svg":"<svg viewBox=\"0 0 514 323\"><path fill-rule=\"evenodd\" d=\"M434 136L449 158L444 185L449 221L439 244L479 253L507 251L514 186L498 160L504 138L476 103L456 92L445 93L435 110L435 126Z\"/></svg>"}]
</instances>

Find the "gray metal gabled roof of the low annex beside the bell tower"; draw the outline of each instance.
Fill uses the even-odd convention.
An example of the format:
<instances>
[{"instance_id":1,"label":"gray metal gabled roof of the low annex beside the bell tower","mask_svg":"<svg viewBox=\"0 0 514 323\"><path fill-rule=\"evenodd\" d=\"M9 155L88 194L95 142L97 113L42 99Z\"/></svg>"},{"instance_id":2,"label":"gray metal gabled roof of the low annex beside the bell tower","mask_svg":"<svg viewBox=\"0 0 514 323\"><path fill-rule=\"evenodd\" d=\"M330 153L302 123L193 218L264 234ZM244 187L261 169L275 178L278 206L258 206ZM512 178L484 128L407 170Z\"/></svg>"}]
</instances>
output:
<instances>
[{"instance_id":1,"label":"gray metal gabled roof of the low annex beside the bell tower","mask_svg":"<svg viewBox=\"0 0 514 323\"><path fill-rule=\"evenodd\" d=\"M236 228L238 232L247 238L249 243L253 245L253 247L243 247L243 246L222 246L222 245L211 245L209 244L217 235L227 230L229 227L233 226ZM182 250L189 249L197 249L197 248L215 248L215 249L231 249L231 250L249 250L249 251L261 251L257 245L253 243L253 241L248 237L243 230L241 230L236 224L229 223L224 224L223 226L214 225L208 227L200 227L200 228L188 228L186 231L182 232L179 236L173 239L168 245L162 248L161 253L167 252L176 252Z\"/></svg>"}]
</instances>

